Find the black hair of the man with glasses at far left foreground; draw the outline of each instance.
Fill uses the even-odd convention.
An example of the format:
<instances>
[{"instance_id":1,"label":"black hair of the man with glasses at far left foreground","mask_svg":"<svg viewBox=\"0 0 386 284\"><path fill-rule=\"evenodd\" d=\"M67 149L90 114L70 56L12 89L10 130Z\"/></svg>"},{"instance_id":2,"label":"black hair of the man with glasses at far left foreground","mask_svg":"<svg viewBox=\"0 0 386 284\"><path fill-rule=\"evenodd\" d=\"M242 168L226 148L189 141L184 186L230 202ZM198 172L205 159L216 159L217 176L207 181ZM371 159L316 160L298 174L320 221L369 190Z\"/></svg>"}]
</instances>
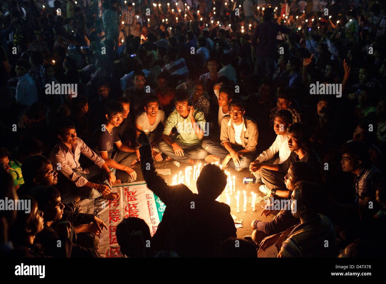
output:
<instances>
[{"instance_id":1,"label":"black hair of the man with glasses at far left foreground","mask_svg":"<svg viewBox=\"0 0 386 284\"><path fill-rule=\"evenodd\" d=\"M22 164L22 175L25 184L34 184L34 178L44 173L44 168L51 164L51 160L43 155L30 156Z\"/></svg>"}]
</instances>

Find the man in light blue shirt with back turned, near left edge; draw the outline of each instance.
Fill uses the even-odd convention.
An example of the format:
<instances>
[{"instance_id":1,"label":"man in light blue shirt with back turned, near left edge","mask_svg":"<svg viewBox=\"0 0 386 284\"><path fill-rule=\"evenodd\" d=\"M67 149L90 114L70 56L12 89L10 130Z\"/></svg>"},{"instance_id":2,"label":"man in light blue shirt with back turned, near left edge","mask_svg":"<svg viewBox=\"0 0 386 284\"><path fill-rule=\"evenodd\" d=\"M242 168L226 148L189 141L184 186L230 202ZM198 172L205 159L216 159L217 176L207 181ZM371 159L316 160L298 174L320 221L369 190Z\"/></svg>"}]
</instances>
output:
<instances>
[{"instance_id":1,"label":"man in light blue shirt with back turned, near left edge","mask_svg":"<svg viewBox=\"0 0 386 284\"><path fill-rule=\"evenodd\" d=\"M37 102L37 88L34 79L28 75L29 65L27 61L19 60L16 64L17 86L16 101L22 106L30 107Z\"/></svg>"}]
</instances>

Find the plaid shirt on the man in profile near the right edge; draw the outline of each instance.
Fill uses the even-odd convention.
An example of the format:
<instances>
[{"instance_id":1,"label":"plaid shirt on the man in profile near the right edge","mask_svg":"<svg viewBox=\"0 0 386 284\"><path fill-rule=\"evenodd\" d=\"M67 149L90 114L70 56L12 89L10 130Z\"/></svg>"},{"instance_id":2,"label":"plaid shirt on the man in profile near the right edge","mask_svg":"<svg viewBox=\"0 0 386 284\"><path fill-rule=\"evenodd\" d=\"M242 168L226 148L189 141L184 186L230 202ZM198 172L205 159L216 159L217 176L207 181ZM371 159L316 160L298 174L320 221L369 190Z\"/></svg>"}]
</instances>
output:
<instances>
[{"instance_id":1,"label":"plaid shirt on the man in profile near the right edge","mask_svg":"<svg viewBox=\"0 0 386 284\"><path fill-rule=\"evenodd\" d=\"M355 184L355 202L359 203L359 199L364 201L365 197L371 197L375 200L374 184L380 177L381 171L377 167L363 168L357 177L354 179Z\"/></svg>"}]
</instances>

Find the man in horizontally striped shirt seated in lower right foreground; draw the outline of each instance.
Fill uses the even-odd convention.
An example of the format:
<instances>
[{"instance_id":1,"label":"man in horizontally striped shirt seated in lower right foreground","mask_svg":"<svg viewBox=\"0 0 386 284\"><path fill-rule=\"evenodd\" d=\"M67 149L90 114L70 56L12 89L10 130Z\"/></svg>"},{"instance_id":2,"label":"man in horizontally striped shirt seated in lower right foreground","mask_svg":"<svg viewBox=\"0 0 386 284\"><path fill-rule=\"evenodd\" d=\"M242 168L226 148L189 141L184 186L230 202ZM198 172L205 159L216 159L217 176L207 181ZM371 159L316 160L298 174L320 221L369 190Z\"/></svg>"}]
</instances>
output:
<instances>
[{"instance_id":1,"label":"man in horizontally striped shirt seated in lower right foreground","mask_svg":"<svg viewBox=\"0 0 386 284\"><path fill-rule=\"evenodd\" d=\"M300 224L293 228L289 235L286 235L286 232L284 235L278 234L278 257L336 256L334 226L327 216L318 214L322 206L322 194L322 189L311 182L301 181L296 184L291 195L291 212L295 218L300 219Z\"/></svg>"}]
</instances>

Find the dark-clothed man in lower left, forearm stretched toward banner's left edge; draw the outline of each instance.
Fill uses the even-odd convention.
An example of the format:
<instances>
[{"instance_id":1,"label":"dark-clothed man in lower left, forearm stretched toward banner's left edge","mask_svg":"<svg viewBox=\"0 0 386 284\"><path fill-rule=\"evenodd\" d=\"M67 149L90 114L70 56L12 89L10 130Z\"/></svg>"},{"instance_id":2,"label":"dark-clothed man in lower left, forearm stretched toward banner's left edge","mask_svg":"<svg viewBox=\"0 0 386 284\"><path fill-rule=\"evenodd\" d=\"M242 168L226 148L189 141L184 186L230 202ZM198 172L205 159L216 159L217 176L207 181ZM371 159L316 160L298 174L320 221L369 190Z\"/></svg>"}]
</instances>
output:
<instances>
[{"instance_id":1,"label":"dark-clothed man in lower left, forearm stretched toward banner's left edge","mask_svg":"<svg viewBox=\"0 0 386 284\"><path fill-rule=\"evenodd\" d=\"M44 227L36 236L44 253L51 257L100 257L97 234L102 232L103 227L107 229L101 219L94 214L63 211L60 192L52 186L34 187L31 196L36 199L39 210L43 211Z\"/></svg>"}]
</instances>

